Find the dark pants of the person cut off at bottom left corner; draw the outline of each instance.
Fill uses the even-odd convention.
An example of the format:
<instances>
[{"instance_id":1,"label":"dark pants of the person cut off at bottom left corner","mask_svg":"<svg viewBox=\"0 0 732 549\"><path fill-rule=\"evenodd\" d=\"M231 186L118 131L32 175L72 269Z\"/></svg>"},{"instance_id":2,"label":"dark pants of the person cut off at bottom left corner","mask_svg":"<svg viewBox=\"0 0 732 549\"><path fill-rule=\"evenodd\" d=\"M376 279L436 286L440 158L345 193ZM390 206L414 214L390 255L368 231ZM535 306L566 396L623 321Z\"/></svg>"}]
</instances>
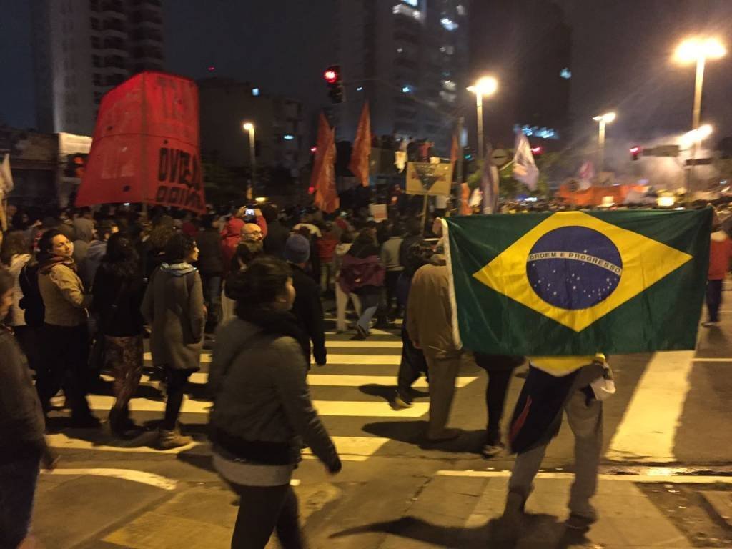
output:
<instances>
[{"instance_id":1,"label":"dark pants of the person cut off at bottom left corner","mask_svg":"<svg viewBox=\"0 0 732 549\"><path fill-rule=\"evenodd\" d=\"M0 548L15 549L28 535L40 452L0 463Z\"/></svg>"}]
</instances>

